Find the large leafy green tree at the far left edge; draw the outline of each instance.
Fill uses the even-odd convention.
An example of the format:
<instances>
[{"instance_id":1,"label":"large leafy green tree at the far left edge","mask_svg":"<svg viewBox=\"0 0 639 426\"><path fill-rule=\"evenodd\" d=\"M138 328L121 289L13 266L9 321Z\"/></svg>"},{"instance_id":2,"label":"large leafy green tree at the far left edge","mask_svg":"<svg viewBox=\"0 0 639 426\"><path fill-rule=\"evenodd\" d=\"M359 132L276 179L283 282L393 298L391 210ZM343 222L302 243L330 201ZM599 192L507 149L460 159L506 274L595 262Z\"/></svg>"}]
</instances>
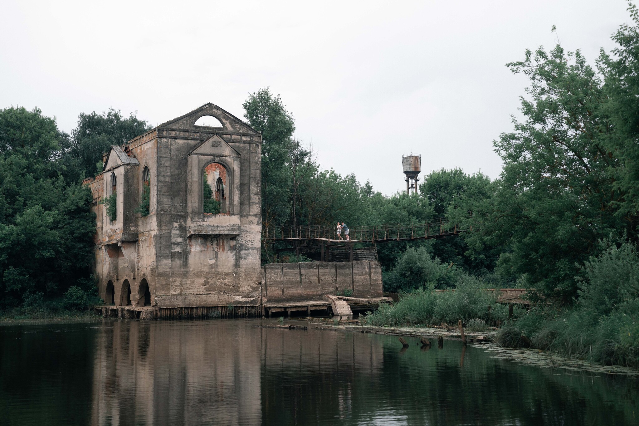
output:
<instances>
[{"instance_id":1,"label":"large leafy green tree at the far left edge","mask_svg":"<svg viewBox=\"0 0 639 426\"><path fill-rule=\"evenodd\" d=\"M65 141L39 109L0 110L1 307L37 305L89 277L93 199L89 188L65 183Z\"/></svg>"}]
</instances>

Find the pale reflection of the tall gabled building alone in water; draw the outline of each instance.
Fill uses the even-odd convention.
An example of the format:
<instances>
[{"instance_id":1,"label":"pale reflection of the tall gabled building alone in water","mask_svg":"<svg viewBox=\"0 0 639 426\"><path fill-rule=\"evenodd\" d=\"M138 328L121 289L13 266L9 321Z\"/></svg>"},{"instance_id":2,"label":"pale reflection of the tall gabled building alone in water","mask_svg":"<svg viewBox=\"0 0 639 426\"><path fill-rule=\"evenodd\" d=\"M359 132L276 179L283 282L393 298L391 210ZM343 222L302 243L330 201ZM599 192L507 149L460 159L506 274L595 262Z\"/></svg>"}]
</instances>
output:
<instances>
[{"instance_id":1,"label":"pale reflection of the tall gabled building alone in water","mask_svg":"<svg viewBox=\"0 0 639 426\"><path fill-rule=\"evenodd\" d=\"M259 328L111 325L96 344L93 425L261 422Z\"/></svg>"}]
</instances>

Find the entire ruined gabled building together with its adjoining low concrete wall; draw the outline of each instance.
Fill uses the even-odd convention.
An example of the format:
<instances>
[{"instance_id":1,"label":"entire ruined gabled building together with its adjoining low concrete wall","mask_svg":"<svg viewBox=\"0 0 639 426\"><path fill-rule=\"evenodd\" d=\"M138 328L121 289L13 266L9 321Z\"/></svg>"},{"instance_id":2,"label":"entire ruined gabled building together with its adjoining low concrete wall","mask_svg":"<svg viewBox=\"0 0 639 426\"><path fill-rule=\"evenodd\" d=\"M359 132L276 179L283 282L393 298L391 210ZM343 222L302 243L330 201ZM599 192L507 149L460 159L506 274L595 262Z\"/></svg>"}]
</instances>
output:
<instances>
[{"instance_id":1,"label":"entire ruined gabled building together with its adjoining low concrete wall","mask_svg":"<svg viewBox=\"0 0 639 426\"><path fill-rule=\"evenodd\" d=\"M345 288L381 297L376 261L260 266L261 142L207 103L111 147L102 173L85 184L96 213L98 290L117 316L128 316L118 307L138 308L138 317L211 309L261 316L291 300L307 301L310 313Z\"/></svg>"}]
</instances>

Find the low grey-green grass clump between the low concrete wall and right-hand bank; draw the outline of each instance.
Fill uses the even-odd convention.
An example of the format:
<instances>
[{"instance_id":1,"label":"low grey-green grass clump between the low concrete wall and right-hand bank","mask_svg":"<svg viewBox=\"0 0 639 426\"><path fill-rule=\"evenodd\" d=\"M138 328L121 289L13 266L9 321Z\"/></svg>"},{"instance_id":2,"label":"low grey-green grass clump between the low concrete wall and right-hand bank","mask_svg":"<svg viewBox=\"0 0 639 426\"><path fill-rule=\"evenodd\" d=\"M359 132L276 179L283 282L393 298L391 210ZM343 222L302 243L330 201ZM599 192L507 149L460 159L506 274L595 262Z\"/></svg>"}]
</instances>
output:
<instances>
[{"instance_id":1,"label":"low grey-green grass clump between the low concrete wall and right-hand bank","mask_svg":"<svg viewBox=\"0 0 639 426\"><path fill-rule=\"evenodd\" d=\"M373 326L401 326L456 324L461 319L464 324L471 320L493 324L508 318L508 309L497 303L497 296L484 291L484 284L478 278L464 276L459 279L456 291L436 292L431 285L429 289L401 293L399 302L381 305L374 314L366 316L364 322Z\"/></svg>"}]
</instances>

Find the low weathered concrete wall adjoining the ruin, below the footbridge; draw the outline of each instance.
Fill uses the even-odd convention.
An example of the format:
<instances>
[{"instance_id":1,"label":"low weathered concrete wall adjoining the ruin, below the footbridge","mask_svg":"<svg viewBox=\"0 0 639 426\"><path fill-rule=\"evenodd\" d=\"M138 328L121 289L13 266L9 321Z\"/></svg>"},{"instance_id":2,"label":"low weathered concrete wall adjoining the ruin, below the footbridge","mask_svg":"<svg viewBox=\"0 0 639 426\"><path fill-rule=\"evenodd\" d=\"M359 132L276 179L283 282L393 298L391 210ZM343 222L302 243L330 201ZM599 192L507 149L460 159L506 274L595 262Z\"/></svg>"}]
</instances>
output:
<instances>
[{"instance_id":1,"label":"low weathered concrete wall adjoining the ruin, below the footbridge","mask_svg":"<svg viewBox=\"0 0 639 426\"><path fill-rule=\"evenodd\" d=\"M377 261L273 263L263 266L265 303L320 300L353 291L354 297L382 297Z\"/></svg>"}]
</instances>

